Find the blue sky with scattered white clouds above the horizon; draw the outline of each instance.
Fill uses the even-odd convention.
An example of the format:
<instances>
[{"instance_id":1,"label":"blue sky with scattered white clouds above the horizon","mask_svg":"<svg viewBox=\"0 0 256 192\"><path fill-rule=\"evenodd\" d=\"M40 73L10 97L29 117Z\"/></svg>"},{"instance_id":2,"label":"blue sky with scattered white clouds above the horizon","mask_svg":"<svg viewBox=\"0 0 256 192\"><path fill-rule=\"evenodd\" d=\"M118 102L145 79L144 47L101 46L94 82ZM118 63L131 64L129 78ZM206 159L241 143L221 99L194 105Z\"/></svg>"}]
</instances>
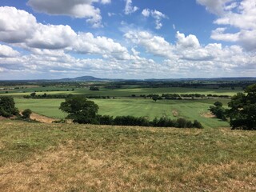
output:
<instances>
[{"instance_id":1,"label":"blue sky with scattered white clouds above the horizon","mask_svg":"<svg viewBox=\"0 0 256 192\"><path fill-rule=\"evenodd\" d=\"M256 1L0 1L0 80L88 75L256 77Z\"/></svg>"}]
</instances>

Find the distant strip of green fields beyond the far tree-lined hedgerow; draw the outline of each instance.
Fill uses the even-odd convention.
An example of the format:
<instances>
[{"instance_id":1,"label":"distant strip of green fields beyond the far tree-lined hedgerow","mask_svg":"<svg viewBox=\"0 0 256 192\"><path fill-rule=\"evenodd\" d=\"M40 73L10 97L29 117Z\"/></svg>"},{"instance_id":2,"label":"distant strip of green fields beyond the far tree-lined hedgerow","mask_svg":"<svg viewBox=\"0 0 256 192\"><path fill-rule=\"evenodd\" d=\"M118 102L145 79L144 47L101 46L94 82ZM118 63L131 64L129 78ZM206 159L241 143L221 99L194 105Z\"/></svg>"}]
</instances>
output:
<instances>
[{"instance_id":1,"label":"distant strip of green fields beyond the far tree-lined hedgerow","mask_svg":"<svg viewBox=\"0 0 256 192\"><path fill-rule=\"evenodd\" d=\"M127 89L116 89L110 90L106 88L101 88L98 91L89 90L89 88L56 88L56 87L38 87L22 90L10 90L8 93L5 91L0 92L0 95L9 95L16 97L22 97L24 95L30 95L32 92L36 91L37 94L85 94L90 95L100 95L100 96L110 96L110 97L130 97L130 95L135 94L137 96L141 94L218 94L218 95L229 95L232 96L237 94L241 90L225 90L225 89L194 89L194 88L182 88L182 87L166 87L166 88L127 88ZM48 91L46 91L48 90ZM58 90L58 91L57 91ZM68 90L68 91L67 91Z\"/></svg>"}]
</instances>

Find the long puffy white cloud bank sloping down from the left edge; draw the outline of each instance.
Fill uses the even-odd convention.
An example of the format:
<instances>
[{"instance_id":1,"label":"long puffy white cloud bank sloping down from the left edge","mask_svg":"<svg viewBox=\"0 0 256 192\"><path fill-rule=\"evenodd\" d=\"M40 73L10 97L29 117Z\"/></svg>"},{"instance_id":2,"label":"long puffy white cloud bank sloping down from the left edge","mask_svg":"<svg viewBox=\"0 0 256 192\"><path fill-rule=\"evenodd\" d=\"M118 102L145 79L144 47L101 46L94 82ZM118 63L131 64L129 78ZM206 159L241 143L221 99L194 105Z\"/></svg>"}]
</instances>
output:
<instances>
[{"instance_id":1,"label":"long puffy white cloud bank sloping down from the left edge","mask_svg":"<svg viewBox=\"0 0 256 192\"><path fill-rule=\"evenodd\" d=\"M77 34L70 26L43 25L36 22L33 15L14 7L1 7L1 9L4 18L8 18L2 19L0 22L0 29L2 29L0 30L2 34L0 39L2 42L19 42L28 50L30 48L39 50L66 49L82 54L98 54L105 58L130 59L126 47L114 42L111 38L94 37L90 33ZM33 22L29 24L30 30L24 33L27 26L19 25L19 23L28 20ZM14 23L18 24L14 25ZM13 36L10 36L9 33Z\"/></svg>"}]
</instances>

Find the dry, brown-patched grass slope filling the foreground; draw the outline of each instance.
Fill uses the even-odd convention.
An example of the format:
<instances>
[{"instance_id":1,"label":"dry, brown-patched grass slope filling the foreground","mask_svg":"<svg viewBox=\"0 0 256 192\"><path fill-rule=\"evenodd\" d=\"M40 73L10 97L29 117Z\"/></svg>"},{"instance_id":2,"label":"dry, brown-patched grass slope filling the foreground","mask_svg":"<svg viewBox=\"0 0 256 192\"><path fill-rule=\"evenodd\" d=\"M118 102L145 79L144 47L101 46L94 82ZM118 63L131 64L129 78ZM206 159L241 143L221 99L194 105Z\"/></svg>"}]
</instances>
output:
<instances>
[{"instance_id":1,"label":"dry, brown-patched grass slope filling the foreground","mask_svg":"<svg viewBox=\"0 0 256 192\"><path fill-rule=\"evenodd\" d=\"M255 191L256 132L0 123L0 191Z\"/></svg>"}]
</instances>

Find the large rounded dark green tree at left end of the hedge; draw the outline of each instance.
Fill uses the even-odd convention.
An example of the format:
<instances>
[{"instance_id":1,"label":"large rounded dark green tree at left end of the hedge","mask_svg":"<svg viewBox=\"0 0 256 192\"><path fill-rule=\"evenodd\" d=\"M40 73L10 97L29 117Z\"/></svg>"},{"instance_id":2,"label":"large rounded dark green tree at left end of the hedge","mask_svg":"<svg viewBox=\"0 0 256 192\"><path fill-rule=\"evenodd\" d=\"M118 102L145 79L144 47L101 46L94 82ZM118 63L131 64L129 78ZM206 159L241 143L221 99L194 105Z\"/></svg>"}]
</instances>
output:
<instances>
[{"instance_id":1,"label":"large rounded dark green tree at left end of the hedge","mask_svg":"<svg viewBox=\"0 0 256 192\"><path fill-rule=\"evenodd\" d=\"M98 105L82 95L71 96L61 103L60 110L68 113L73 122L98 124Z\"/></svg>"}]
</instances>

